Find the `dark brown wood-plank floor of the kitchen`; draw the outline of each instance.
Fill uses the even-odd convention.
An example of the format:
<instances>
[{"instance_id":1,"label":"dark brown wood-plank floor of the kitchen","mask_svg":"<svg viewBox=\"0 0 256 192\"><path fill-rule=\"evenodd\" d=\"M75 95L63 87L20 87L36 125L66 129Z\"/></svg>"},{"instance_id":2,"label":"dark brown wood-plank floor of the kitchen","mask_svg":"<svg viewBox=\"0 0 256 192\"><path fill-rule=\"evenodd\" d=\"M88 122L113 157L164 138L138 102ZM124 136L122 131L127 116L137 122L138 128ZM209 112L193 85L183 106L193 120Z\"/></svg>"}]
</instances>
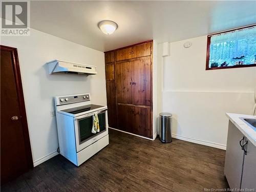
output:
<instances>
[{"instance_id":1,"label":"dark brown wood-plank floor of the kitchen","mask_svg":"<svg viewBox=\"0 0 256 192\"><path fill-rule=\"evenodd\" d=\"M163 144L110 130L110 144L76 167L61 155L1 191L204 191L227 188L225 151L173 139Z\"/></svg>"}]
</instances>

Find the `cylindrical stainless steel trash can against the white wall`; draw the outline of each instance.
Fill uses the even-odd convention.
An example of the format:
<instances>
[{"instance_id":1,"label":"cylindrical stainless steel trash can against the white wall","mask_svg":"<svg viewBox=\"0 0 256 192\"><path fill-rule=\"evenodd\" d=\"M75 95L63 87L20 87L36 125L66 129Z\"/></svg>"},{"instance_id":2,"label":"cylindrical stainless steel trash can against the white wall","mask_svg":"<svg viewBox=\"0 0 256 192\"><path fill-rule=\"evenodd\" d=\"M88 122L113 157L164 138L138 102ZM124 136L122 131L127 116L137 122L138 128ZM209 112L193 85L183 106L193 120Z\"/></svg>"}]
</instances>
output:
<instances>
[{"instance_id":1,"label":"cylindrical stainless steel trash can against the white wall","mask_svg":"<svg viewBox=\"0 0 256 192\"><path fill-rule=\"evenodd\" d=\"M172 118L171 113L159 114L159 139L163 143L172 142Z\"/></svg>"}]
</instances>

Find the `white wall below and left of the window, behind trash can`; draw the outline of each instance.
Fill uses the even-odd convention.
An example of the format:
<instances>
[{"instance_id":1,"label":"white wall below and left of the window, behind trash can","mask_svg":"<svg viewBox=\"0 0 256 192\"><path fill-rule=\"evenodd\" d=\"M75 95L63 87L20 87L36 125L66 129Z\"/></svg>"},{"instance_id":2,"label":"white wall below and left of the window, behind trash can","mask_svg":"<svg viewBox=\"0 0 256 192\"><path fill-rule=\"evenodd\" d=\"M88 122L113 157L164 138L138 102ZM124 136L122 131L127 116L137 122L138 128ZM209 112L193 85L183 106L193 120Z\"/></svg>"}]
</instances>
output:
<instances>
[{"instance_id":1,"label":"white wall below and left of the window, behind trash can","mask_svg":"<svg viewBox=\"0 0 256 192\"><path fill-rule=\"evenodd\" d=\"M172 42L167 57L161 57L159 45L161 111L173 113L174 137L225 149L225 113L252 113L256 68L206 71L206 40ZM183 47L186 41L190 48Z\"/></svg>"}]
</instances>

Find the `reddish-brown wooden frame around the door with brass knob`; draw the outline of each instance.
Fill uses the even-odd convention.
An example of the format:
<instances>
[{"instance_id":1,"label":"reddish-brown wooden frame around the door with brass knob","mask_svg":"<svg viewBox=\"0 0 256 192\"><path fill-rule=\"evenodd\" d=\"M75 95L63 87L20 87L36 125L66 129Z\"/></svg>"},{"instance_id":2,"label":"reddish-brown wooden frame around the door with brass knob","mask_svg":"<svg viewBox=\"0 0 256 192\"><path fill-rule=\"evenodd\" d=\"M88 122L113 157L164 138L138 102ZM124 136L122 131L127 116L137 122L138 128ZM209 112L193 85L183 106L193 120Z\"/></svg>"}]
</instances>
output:
<instances>
[{"instance_id":1,"label":"reddish-brown wooden frame around the door with brass knob","mask_svg":"<svg viewBox=\"0 0 256 192\"><path fill-rule=\"evenodd\" d=\"M12 61L13 61L13 72L14 72L14 80L16 84L16 91L18 96L18 103L19 103L19 111L20 115L22 116L22 129L25 141L25 148L26 148L26 156L28 161L28 167L33 168L33 158L32 158L32 151L30 145L30 138L29 138L29 129L28 129L28 122L27 122L27 115L26 115L26 108L25 108L25 100L23 95L23 88L22 88L22 77L20 75L20 68L19 68L19 61L18 61L18 51L17 48L8 47L0 45L1 51L9 51L11 52Z\"/></svg>"}]
</instances>

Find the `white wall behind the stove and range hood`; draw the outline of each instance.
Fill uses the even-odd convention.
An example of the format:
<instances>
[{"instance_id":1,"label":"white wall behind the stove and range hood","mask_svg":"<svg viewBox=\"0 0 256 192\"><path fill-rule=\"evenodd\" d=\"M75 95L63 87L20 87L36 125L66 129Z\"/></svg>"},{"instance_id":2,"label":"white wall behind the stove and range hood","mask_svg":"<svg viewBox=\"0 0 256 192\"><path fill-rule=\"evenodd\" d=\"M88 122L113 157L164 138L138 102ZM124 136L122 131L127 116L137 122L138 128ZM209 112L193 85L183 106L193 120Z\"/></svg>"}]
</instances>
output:
<instances>
[{"instance_id":1,"label":"white wall behind the stove and range hood","mask_svg":"<svg viewBox=\"0 0 256 192\"><path fill-rule=\"evenodd\" d=\"M30 36L2 36L1 45L18 50L34 165L56 155L58 147L53 97L91 93L106 104L104 53L31 29ZM97 66L97 75L48 74L47 61L60 59Z\"/></svg>"}]
</instances>

